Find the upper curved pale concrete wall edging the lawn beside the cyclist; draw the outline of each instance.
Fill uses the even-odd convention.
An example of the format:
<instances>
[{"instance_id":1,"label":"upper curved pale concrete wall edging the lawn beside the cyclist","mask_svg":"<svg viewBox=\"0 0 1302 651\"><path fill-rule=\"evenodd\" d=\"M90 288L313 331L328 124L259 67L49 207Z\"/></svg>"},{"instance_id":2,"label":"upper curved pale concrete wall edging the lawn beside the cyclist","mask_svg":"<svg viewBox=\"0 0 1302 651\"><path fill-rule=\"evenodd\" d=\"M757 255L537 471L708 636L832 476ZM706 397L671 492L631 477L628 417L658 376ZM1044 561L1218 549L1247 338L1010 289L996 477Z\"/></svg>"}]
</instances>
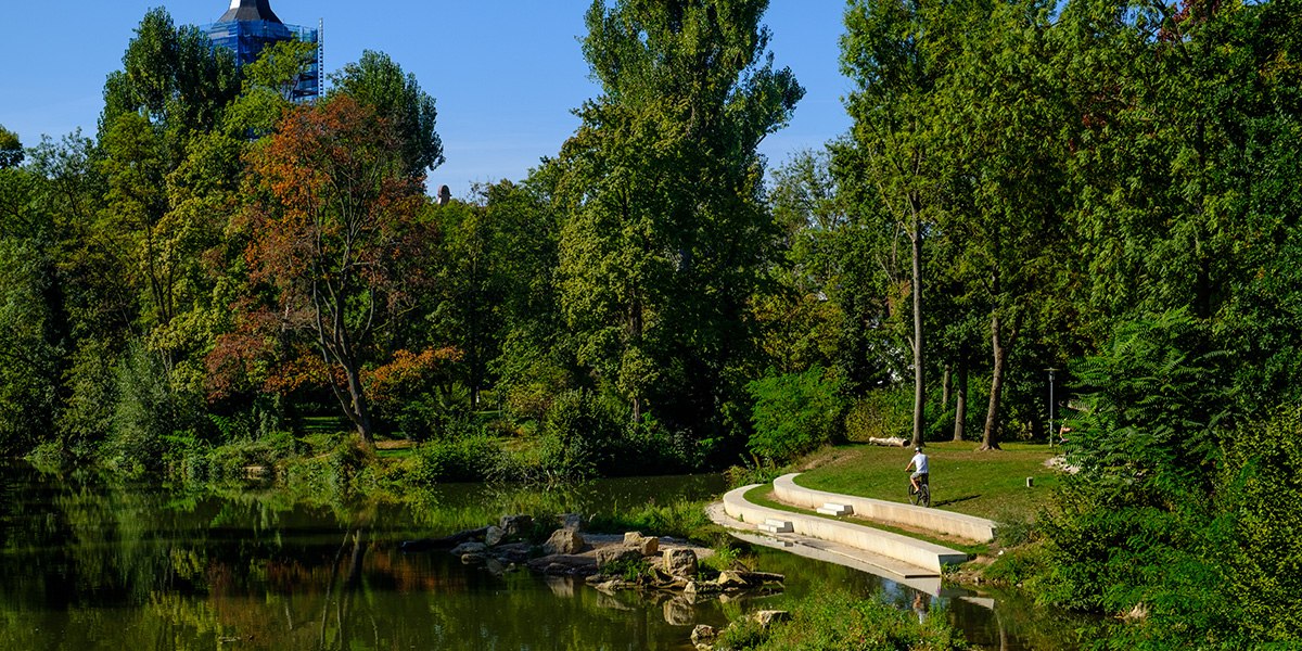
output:
<instances>
[{"instance_id":1,"label":"upper curved pale concrete wall edging the lawn beside the cyclist","mask_svg":"<svg viewBox=\"0 0 1302 651\"><path fill-rule=\"evenodd\" d=\"M799 506L802 509L818 509L827 503L846 504L854 508L855 516L876 522L900 525L923 531L935 531L937 534L965 538L978 543L986 543L995 539L995 522L986 518L940 509L914 506L911 504L815 491L812 488L797 486L797 474L798 473L783 475L773 480L773 495L779 501L790 504L792 506ZM905 486L904 482L901 482L900 491L904 492L904 490Z\"/></svg>"}]
</instances>

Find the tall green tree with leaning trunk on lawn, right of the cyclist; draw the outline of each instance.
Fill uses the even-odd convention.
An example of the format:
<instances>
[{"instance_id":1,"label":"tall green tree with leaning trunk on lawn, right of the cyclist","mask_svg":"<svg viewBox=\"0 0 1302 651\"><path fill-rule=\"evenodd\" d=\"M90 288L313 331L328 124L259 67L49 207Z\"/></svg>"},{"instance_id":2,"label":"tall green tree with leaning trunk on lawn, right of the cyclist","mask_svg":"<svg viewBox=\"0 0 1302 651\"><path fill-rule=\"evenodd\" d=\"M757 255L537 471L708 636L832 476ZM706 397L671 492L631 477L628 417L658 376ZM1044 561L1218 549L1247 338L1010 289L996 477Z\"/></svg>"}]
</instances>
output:
<instances>
[{"instance_id":1,"label":"tall green tree with leaning trunk on lawn, right of the cyclist","mask_svg":"<svg viewBox=\"0 0 1302 651\"><path fill-rule=\"evenodd\" d=\"M993 365L982 449L999 448L1010 353L1040 310L1057 307L1065 237L1065 103L1056 91L1040 3L978 8L957 38L936 92L949 148L962 161L956 185L967 199L941 228L960 251L962 277L991 307Z\"/></svg>"}]
</instances>

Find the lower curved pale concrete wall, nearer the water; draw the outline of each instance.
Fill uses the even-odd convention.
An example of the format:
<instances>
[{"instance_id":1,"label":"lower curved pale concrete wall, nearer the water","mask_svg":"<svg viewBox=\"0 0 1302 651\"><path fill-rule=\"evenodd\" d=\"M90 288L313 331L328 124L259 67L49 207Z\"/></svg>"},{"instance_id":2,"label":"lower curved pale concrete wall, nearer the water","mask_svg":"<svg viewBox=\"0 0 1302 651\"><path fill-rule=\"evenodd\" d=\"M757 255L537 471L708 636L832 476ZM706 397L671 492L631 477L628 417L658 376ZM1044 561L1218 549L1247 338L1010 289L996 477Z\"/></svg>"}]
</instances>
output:
<instances>
[{"instance_id":1,"label":"lower curved pale concrete wall, nearer the water","mask_svg":"<svg viewBox=\"0 0 1302 651\"><path fill-rule=\"evenodd\" d=\"M746 501L746 491L750 491L755 486L736 488L724 495L724 510L730 517L747 525L758 526L766 519L786 521L792 523L793 533L796 534L832 540L857 549L879 553L936 574L940 574L941 565L958 564L967 560L966 553L924 540L914 540L913 538L891 531L751 504Z\"/></svg>"}]
</instances>

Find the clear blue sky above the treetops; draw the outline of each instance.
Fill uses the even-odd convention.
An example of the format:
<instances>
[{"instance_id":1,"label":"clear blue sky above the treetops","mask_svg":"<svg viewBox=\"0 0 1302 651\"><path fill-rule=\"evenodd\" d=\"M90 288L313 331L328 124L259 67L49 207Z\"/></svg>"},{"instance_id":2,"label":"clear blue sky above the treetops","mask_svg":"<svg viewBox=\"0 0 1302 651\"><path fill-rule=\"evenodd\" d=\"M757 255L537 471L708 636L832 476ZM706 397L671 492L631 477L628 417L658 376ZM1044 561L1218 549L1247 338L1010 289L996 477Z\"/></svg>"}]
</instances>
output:
<instances>
[{"instance_id":1,"label":"clear blue sky above the treetops","mask_svg":"<svg viewBox=\"0 0 1302 651\"><path fill-rule=\"evenodd\" d=\"M4 4L0 124L31 146L78 126L94 135L104 77L121 66L151 7L161 4L177 23L202 25L229 0ZM417 76L437 103L448 159L428 185L447 184L454 197L474 182L523 178L574 132L570 111L598 94L578 43L589 0L271 0L271 7L288 23L324 20L327 70L379 49ZM771 0L764 20L771 49L807 89L790 126L762 146L771 167L849 128L841 98L850 83L837 64L844 8L844 0Z\"/></svg>"}]
</instances>

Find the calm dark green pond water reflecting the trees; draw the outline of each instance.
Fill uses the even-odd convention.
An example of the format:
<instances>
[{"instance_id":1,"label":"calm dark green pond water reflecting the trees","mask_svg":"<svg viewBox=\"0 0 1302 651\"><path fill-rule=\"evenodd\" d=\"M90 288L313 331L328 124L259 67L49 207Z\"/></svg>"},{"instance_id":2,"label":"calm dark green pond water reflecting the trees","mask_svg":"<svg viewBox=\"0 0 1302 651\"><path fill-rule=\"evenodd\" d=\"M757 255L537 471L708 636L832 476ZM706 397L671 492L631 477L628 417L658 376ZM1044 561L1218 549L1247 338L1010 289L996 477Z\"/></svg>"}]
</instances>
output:
<instances>
[{"instance_id":1,"label":"calm dark green pond water reflecting the trees","mask_svg":"<svg viewBox=\"0 0 1302 651\"><path fill-rule=\"evenodd\" d=\"M557 493L456 486L413 504L340 505L246 487L177 495L21 464L0 470L3 650L685 650L695 624L720 626L829 586L926 605L995 648L1056 648L1065 634L1016 599L918 599L779 551L756 553L759 569L788 575L785 594L691 605L397 548L538 506L594 513L715 495L716 477Z\"/></svg>"}]
</instances>

